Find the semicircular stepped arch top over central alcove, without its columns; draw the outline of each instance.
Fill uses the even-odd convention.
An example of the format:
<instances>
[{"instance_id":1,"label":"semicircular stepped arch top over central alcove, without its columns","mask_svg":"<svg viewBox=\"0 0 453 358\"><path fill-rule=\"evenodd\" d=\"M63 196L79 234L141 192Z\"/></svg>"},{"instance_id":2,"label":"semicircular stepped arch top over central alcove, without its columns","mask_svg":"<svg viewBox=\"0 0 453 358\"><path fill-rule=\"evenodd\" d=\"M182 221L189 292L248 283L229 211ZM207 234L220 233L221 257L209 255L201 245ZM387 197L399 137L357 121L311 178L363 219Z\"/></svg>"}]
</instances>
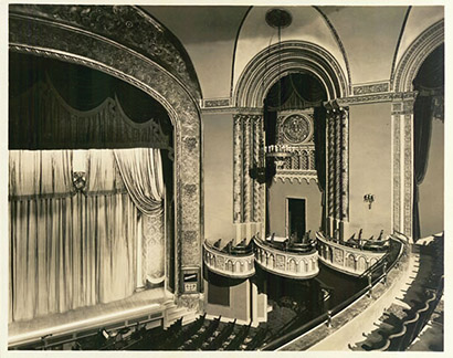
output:
<instances>
[{"instance_id":1,"label":"semicircular stepped arch top over central alcove, without its columns","mask_svg":"<svg viewBox=\"0 0 453 358\"><path fill-rule=\"evenodd\" d=\"M335 57L306 41L284 41L257 53L242 72L234 93L236 107L261 108L267 91L289 73L314 75L326 88L327 99L348 96L348 82Z\"/></svg>"}]
</instances>

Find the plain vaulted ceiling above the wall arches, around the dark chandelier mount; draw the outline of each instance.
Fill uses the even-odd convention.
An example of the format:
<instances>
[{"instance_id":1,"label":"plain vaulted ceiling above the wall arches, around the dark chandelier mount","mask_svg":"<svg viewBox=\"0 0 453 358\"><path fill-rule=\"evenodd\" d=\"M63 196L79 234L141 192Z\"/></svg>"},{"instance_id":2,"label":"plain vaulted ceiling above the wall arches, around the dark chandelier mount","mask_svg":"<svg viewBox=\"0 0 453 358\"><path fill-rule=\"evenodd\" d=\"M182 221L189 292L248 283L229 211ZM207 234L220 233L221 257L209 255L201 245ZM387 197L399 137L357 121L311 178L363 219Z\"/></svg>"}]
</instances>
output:
<instances>
[{"instance_id":1,"label":"plain vaulted ceiling above the wall arches, around the dark chandelier mount","mask_svg":"<svg viewBox=\"0 0 453 358\"><path fill-rule=\"evenodd\" d=\"M230 97L246 64L277 40L264 20L273 7L141 7L167 27L188 52L203 98ZM292 24L282 40L323 46L350 84L388 81L394 61L443 7L285 7ZM405 27L404 24L404 19Z\"/></svg>"}]
</instances>

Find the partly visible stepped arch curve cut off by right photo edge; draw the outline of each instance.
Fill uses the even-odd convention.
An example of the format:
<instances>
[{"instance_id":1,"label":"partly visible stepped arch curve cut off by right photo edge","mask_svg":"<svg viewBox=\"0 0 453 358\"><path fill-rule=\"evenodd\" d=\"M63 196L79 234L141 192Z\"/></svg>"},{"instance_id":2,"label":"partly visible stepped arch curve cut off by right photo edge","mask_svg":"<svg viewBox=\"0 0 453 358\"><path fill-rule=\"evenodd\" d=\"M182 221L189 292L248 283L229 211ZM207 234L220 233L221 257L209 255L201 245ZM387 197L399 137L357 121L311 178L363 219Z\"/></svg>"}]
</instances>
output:
<instances>
[{"instance_id":1,"label":"partly visible stepped arch curve cut off by right photo edge","mask_svg":"<svg viewBox=\"0 0 453 358\"><path fill-rule=\"evenodd\" d=\"M394 92L413 91L413 80L424 60L444 43L444 20L440 20L424 30L405 50L392 74Z\"/></svg>"}]
</instances>

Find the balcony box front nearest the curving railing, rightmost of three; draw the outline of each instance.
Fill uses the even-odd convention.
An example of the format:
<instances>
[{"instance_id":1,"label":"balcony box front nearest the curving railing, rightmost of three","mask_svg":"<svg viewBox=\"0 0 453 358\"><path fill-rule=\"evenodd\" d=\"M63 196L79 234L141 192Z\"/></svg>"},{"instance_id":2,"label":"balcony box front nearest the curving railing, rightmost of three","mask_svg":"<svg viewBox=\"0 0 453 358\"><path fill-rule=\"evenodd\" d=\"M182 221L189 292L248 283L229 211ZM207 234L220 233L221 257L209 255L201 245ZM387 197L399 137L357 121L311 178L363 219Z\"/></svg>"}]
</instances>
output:
<instances>
[{"instance_id":1,"label":"balcony box front nearest the curving railing, rightmost of three","mask_svg":"<svg viewBox=\"0 0 453 358\"><path fill-rule=\"evenodd\" d=\"M320 232L316 233L316 239L320 262L351 276L360 276L388 252L386 241L368 242L359 246L327 239Z\"/></svg>"}]
</instances>

